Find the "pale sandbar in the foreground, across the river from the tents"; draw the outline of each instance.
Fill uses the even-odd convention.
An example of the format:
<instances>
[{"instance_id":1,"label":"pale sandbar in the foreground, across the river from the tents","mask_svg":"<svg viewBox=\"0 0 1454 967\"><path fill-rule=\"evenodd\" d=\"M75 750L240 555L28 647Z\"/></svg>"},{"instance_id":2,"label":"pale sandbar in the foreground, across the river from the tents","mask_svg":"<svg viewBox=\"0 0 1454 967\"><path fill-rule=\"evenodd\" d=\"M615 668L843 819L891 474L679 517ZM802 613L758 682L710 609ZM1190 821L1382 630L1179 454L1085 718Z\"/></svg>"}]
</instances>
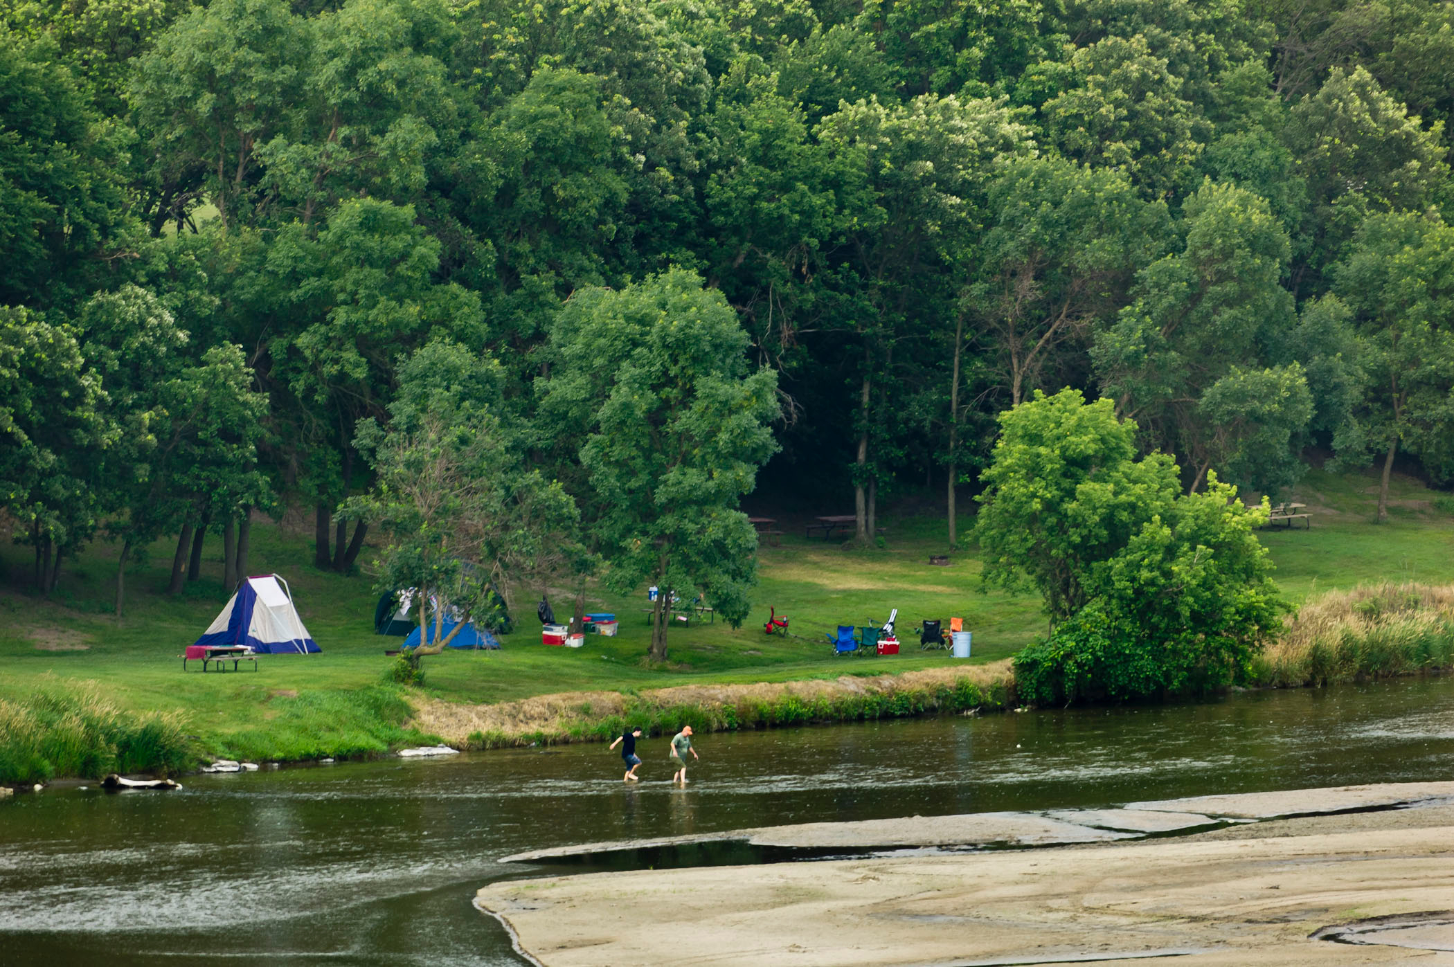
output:
<instances>
[{"instance_id":1,"label":"pale sandbar in the foreground, across the river from the tents","mask_svg":"<svg viewBox=\"0 0 1454 967\"><path fill-rule=\"evenodd\" d=\"M1314 967L1413 955L1439 964L1448 954L1431 951L1451 950L1448 916L1418 915L1454 909L1451 788L1428 784L1429 795L1412 794L1410 808L1176 839L513 880L484 887L475 904L500 916L547 967L695 964L704 951L714 964L804 967L1128 966L1160 957L1198 967ZM1349 797L1387 803L1384 790L1394 790L1391 801L1410 801L1407 787L1355 787L1137 806L1259 816L1277 803L1274 814L1317 813ZM891 820L899 829L935 822ZM662 909L683 929L643 929L641 912ZM1378 918L1403 918L1405 928L1380 935ZM1312 936L1326 928L1368 931L1365 945Z\"/></svg>"}]
</instances>

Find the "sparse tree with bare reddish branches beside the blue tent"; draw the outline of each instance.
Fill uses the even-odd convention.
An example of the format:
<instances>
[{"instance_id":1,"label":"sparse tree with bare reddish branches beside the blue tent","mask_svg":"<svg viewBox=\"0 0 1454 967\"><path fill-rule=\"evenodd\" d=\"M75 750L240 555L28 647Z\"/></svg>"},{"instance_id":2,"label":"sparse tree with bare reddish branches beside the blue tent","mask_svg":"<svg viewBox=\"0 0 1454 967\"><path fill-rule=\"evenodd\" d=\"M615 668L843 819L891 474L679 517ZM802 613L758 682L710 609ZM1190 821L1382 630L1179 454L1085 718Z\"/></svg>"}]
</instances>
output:
<instances>
[{"instance_id":1,"label":"sparse tree with bare reddish branches beside the blue tent","mask_svg":"<svg viewBox=\"0 0 1454 967\"><path fill-rule=\"evenodd\" d=\"M521 467L515 432L491 412L499 364L433 342L400 375L404 391L390 406L388 428L359 423L358 448L377 483L339 513L382 531L374 571L381 590L414 590L417 659L439 654L486 614L496 589L510 601L521 580L550 567L570 539L576 509L558 483ZM458 621L448 634L446 615Z\"/></svg>"}]
</instances>

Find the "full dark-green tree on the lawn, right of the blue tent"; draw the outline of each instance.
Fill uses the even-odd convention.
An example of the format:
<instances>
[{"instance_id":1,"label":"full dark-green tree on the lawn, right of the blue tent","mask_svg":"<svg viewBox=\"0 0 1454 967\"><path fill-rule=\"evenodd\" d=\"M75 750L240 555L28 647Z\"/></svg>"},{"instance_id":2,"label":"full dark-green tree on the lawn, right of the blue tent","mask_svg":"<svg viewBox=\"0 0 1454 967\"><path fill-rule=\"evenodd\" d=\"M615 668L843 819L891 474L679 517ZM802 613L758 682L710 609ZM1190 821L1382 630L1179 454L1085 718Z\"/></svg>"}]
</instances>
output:
<instances>
[{"instance_id":1,"label":"full dark-green tree on the lawn, right of the blue tent","mask_svg":"<svg viewBox=\"0 0 1454 967\"><path fill-rule=\"evenodd\" d=\"M750 371L747 334L686 270L586 289L551 333L545 403L585 420L580 464L599 507L606 585L662 589L650 656L664 660L672 593L698 592L733 627L747 617L756 534L737 500L776 445L776 375Z\"/></svg>"}]
</instances>

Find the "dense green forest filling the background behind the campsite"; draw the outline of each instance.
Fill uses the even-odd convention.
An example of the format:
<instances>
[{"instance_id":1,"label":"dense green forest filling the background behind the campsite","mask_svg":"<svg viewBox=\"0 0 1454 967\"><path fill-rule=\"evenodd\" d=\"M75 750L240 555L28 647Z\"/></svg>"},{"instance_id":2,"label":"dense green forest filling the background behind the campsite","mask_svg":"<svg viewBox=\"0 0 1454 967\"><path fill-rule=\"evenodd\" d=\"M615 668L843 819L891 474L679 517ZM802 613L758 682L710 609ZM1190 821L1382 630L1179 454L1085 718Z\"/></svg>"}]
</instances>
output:
<instances>
[{"instance_id":1,"label":"dense green forest filling the background behind the campsite","mask_svg":"<svg viewBox=\"0 0 1454 967\"><path fill-rule=\"evenodd\" d=\"M859 538L947 486L954 542L1035 390L1188 493L1444 481L1451 81L1435 0L10 0L3 507L42 592L97 539L234 579L285 503L348 570L411 381L638 576L632 487L708 521L769 457Z\"/></svg>"}]
</instances>

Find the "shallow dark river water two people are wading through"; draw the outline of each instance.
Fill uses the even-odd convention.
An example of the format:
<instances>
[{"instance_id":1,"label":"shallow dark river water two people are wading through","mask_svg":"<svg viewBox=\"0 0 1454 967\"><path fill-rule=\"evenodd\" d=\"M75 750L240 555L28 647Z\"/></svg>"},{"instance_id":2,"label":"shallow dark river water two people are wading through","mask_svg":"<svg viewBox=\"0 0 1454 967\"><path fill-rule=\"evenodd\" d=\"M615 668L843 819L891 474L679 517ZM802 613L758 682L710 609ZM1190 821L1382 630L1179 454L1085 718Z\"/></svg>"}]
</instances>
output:
<instances>
[{"instance_id":1,"label":"shallow dark river water two people are wading through","mask_svg":"<svg viewBox=\"0 0 1454 967\"><path fill-rule=\"evenodd\" d=\"M196 775L0 803L0 964L519 961L474 891L554 845L1454 778L1454 679ZM535 870L538 871L538 868ZM651 920L650 912L643 912Z\"/></svg>"}]
</instances>

